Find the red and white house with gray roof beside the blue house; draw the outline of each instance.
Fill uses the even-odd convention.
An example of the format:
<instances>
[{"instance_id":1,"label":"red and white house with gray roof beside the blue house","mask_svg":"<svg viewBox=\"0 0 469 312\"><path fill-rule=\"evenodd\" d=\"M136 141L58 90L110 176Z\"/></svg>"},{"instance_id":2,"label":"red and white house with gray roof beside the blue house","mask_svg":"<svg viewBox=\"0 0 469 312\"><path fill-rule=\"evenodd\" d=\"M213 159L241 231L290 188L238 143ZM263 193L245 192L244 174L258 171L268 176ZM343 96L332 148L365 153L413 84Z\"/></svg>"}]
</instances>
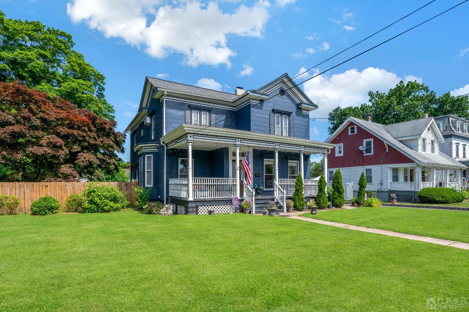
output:
<instances>
[{"instance_id":1,"label":"red and white house with gray roof beside the blue house","mask_svg":"<svg viewBox=\"0 0 469 312\"><path fill-rule=\"evenodd\" d=\"M395 193L400 202L417 203L416 192L428 187L460 189L461 171L466 168L439 151L445 139L433 117L382 125L349 117L325 141L335 147L327 155L327 178L332 182L340 168L344 182L353 183L365 173L367 190L389 201Z\"/></svg>"}]
</instances>

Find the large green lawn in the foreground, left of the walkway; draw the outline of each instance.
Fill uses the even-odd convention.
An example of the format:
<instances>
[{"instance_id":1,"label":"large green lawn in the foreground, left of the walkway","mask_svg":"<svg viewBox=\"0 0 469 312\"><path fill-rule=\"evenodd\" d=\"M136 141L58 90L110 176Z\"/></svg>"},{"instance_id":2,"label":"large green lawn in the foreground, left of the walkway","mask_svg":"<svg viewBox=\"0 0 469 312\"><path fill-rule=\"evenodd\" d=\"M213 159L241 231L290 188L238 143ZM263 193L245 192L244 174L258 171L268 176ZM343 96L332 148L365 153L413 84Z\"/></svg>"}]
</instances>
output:
<instances>
[{"instance_id":1,"label":"large green lawn in the foreground, left of the walkway","mask_svg":"<svg viewBox=\"0 0 469 312\"><path fill-rule=\"evenodd\" d=\"M244 214L6 216L0 259L0 311L428 311L469 289L467 250Z\"/></svg>"}]
</instances>

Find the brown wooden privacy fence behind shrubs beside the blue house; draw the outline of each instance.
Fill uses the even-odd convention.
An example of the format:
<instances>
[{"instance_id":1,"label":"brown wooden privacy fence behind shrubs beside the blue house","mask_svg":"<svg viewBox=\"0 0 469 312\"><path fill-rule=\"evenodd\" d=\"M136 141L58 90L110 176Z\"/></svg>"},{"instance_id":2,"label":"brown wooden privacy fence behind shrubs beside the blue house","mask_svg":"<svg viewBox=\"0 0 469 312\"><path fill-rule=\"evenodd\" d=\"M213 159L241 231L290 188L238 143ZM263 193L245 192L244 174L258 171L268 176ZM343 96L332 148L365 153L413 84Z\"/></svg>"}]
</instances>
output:
<instances>
[{"instance_id":1,"label":"brown wooden privacy fence behind shrubs beside the blue house","mask_svg":"<svg viewBox=\"0 0 469 312\"><path fill-rule=\"evenodd\" d=\"M98 185L118 187L129 197L130 205L134 204L133 186L137 182L95 182ZM65 201L70 194L81 194L90 182L0 182L0 194L16 196L21 204L18 212L30 210L31 203L42 196L50 195L59 200L65 208Z\"/></svg>"}]
</instances>

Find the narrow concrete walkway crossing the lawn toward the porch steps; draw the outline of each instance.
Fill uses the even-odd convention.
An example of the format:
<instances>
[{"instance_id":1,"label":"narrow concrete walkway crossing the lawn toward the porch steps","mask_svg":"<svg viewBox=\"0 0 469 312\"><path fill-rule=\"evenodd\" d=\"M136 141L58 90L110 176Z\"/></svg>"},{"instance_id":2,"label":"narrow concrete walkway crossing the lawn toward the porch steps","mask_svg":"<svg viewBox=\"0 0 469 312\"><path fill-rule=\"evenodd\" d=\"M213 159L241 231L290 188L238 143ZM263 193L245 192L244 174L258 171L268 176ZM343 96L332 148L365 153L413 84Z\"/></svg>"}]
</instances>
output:
<instances>
[{"instance_id":1,"label":"narrow concrete walkway crossing the lawn toward the porch steps","mask_svg":"<svg viewBox=\"0 0 469 312\"><path fill-rule=\"evenodd\" d=\"M318 219L313 219L313 218L300 217L300 216L298 216L300 213L303 213L303 211L301 211L301 212L296 212L295 211L295 212L291 212L291 213L282 213L280 216L287 217L287 218L292 218L292 219L303 220L303 221L308 221L308 222L324 224L324 225L332 225L332 226L337 226L337 227L343 227L343 228L350 229L350 230L377 233L377 234L383 234L383 235L388 235L388 236L396 236L396 237L401 237L401 238L404 238L404 239L413 239L413 240L426 241L426 242L433 243L433 244L445 245L445 246L451 246L451 247L456 247L456 248L469 250L469 244L468 243L462 243L462 242L459 242L459 241L447 240L447 239L436 239L436 238L427 237L427 236L406 234L406 233L393 232L393 231L388 231L388 230L372 229L372 228L364 227L364 226L348 225L348 224L343 224L343 223L337 223L337 222L318 220Z\"/></svg>"}]
</instances>

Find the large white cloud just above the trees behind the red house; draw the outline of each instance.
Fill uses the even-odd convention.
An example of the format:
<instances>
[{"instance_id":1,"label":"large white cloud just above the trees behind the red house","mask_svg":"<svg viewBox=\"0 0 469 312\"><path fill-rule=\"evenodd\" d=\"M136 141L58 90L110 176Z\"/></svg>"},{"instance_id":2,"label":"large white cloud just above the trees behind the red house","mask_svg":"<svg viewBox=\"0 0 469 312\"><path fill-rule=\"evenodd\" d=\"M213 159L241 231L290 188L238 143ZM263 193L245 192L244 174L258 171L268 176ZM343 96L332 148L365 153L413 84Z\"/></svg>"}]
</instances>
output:
<instances>
[{"instance_id":1,"label":"large white cloud just above the trees behind the red house","mask_svg":"<svg viewBox=\"0 0 469 312\"><path fill-rule=\"evenodd\" d=\"M300 72L304 72L304 68ZM311 70L311 74L319 73L317 69ZM303 77L304 78L304 77ZM407 75L407 79L421 78ZM327 117L327 114L337 106L357 106L368 102L368 91L387 92L400 80L395 73L387 72L384 69L368 67L359 72L357 69L350 69L345 73L333 74L330 77L325 75L317 76L303 84L304 92L315 102L319 109L315 112L316 117Z\"/></svg>"}]
</instances>

